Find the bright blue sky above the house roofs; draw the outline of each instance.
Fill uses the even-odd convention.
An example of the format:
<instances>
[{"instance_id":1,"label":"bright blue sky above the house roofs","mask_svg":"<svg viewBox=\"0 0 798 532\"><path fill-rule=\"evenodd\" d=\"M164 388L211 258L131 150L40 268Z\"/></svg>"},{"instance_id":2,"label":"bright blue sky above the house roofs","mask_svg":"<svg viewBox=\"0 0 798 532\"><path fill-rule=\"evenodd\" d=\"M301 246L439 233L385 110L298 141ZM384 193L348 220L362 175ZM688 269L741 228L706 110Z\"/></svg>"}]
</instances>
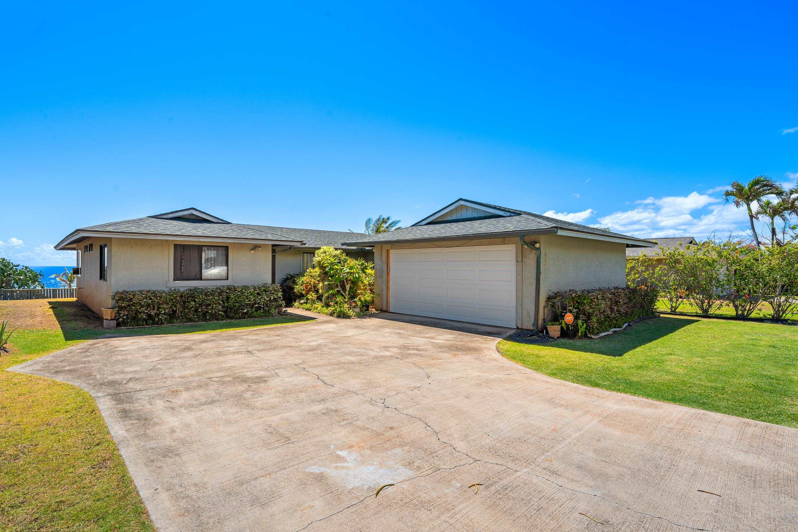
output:
<instances>
[{"instance_id":1,"label":"bright blue sky above the house roofs","mask_svg":"<svg viewBox=\"0 0 798 532\"><path fill-rule=\"evenodd\" d=\"M69 264L69 231L181 207L361 231L459 197L701 236L745 225L717 187L798 178L795 2L116 3L6 7L0 255Z\"/></svg>"}]
</instances>

